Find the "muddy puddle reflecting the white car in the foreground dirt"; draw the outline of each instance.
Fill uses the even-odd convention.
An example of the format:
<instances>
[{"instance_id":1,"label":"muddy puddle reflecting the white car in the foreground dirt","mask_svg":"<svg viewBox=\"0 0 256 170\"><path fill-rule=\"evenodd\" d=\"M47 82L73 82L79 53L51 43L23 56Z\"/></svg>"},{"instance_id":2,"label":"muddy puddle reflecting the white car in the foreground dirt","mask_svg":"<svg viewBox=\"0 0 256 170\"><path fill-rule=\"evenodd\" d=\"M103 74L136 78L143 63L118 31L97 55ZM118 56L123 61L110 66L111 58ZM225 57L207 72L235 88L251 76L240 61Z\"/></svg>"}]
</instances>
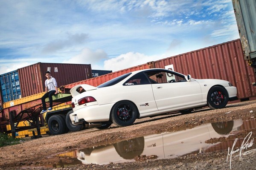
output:
<instances>
[{"instance_id":1,"label":"muddy puddle reflecting the white car in the foreground dirt","mask_svg":"<svg viewBox=\"0 0 256 170\"><path fill-rule=\"evenodd\" d=\"M156 155L157 159L172 159L189 153L227 150L228 147L233 146L234 141L231 140L214 144L205 143L205 141L211 138L219 138L221 136L228 137L232 135L234 131L255 128L256 119L237 119L229 122L209 123L177 132L143 136L107 146L75 150L58 156L67 156L68 154L72 154L73 157L76 157L74 160L76 163L72 162L72 164L122 163L135 161L134 158L136 156L142 155ZM241 142L242 140L243 139L241 139ZM241 145L241 142L238 140L236 144ZM79 163L77 163L78 160Z\"/></svg>"}]
</instances>

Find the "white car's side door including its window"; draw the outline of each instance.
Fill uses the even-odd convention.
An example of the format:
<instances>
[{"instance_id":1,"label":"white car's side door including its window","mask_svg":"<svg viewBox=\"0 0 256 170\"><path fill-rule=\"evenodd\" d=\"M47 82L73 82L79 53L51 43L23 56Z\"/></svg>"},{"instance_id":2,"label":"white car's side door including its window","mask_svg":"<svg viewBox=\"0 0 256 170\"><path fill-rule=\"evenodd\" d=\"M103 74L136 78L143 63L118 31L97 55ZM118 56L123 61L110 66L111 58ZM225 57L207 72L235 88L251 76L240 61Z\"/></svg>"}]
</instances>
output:
<instances>
[{"instance_id":1,"label":"white car's side door including its window","mask_svg":"<svg viewBox=\"0 0 256 170\"><path fill-rule=\"evenodd\" d=\"M159 111L194 105L202 102L201 87L191 79L186 81L184 75L172 71L150 74L154 99Z\"/></svg>"}]
</instances>

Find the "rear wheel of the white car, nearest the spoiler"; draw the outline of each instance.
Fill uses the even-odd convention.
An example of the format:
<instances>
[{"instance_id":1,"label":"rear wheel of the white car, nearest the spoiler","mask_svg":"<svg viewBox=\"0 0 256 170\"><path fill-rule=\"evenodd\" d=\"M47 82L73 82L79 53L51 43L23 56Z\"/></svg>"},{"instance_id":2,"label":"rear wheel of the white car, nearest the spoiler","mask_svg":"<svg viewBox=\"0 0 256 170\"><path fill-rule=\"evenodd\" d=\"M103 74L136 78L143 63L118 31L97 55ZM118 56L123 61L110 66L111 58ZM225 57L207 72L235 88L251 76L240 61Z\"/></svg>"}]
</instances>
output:
<instances>
[{"instance_id":1,"label":"rear wheel of the white car, nearest the spoiler","mask_svg":"<svg viewBox=\"0 0 256 170\"><path fill-rule=\"evenodd\" d=\"M111 110L111 121L119 127L129 126L134 123L137 114L137 108L132 102L120 101Z\"/></svg>"}]
</instances>

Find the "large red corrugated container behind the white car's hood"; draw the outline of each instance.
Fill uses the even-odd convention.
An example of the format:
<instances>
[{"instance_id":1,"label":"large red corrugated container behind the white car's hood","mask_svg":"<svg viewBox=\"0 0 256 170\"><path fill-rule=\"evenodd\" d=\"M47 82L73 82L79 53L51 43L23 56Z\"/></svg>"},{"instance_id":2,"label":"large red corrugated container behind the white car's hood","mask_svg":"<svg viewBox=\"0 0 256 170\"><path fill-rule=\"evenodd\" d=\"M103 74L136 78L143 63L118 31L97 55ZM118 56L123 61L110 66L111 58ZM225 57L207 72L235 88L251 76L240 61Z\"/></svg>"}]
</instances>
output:
<instances>
[{"instance_id":1,"label":"large red corrugated container behind the white car's hood","mask_svg":"<svg viewBox=\"0 0 256 170\"><path fill-rule=\"evenodd\" d=\"M244 60L240 39L153 62L155 68L173 65L174 71L196 79L224 79L237 87L238 97L256 96L253 68Z\"/></svg>"}]
</instances>

